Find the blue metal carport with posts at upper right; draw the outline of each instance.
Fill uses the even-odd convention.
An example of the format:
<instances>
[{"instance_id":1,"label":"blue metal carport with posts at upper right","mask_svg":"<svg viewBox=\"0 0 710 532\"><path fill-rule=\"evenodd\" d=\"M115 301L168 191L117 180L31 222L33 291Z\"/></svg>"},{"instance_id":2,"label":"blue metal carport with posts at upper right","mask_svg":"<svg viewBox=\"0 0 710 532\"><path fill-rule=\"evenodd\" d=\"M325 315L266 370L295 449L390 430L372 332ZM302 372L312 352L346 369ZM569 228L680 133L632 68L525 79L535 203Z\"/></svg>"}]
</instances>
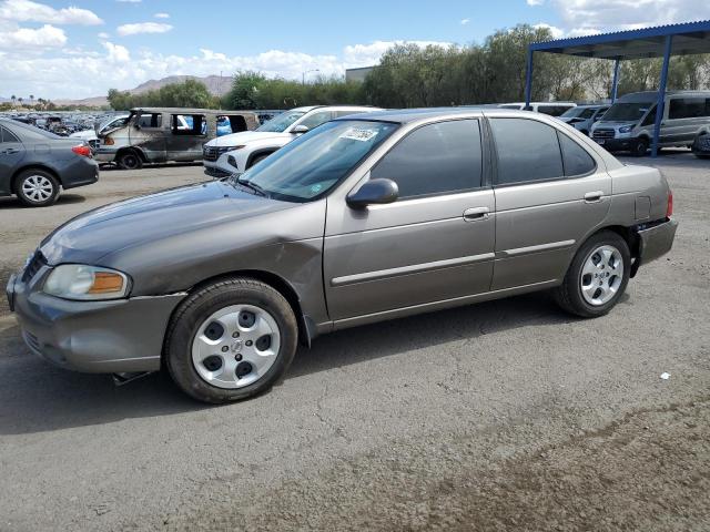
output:
<instances>
[{"instance_id":1,"label":"blue metal carport with posts at upper right","mask_svg":"<svg viewBox=\"0 0 710 532\"><path fill-rule=\"evenodd\" d=\"M658 155L658 136L663 119L663 99L668 80L668 63L671 55L710 53L710 20L681 24L660 25L640 30L619 31L599 35L577 37L557 41L534 42L528 48L528 65L525 81L525 104L530 104L532 91L532 54L535 52L560 53L578 58L609 59L615 61L611 101L617 98L619 62L628 59L663 58L661 79L658 85L656 127L652 156Z\"/></svg>"}]
</instances>

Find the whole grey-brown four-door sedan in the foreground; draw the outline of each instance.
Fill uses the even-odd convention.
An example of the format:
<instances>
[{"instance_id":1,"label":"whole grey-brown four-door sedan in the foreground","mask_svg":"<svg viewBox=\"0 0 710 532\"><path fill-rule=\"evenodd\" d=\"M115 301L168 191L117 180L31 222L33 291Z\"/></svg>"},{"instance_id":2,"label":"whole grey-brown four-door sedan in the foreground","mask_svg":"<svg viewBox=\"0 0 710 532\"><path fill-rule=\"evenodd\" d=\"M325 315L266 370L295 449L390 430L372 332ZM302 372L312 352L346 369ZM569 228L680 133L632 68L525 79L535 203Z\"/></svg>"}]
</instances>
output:
<instances>
[{"instance_id":1,"label":"whole grey-brown four-door sedan in the foreground","mask_svg":"<svg viewBox=\"0 0 710 532\"><path fill-rule=\"evenodd\" d=\"M51 362L122 379L164 367L225 402L271 387L298 340L346 327L542 289L605 315L670 249L671 215L658 170L548 116L369 113L239 177L74 218L8 295Z\"/></svg>"}]
</instances>

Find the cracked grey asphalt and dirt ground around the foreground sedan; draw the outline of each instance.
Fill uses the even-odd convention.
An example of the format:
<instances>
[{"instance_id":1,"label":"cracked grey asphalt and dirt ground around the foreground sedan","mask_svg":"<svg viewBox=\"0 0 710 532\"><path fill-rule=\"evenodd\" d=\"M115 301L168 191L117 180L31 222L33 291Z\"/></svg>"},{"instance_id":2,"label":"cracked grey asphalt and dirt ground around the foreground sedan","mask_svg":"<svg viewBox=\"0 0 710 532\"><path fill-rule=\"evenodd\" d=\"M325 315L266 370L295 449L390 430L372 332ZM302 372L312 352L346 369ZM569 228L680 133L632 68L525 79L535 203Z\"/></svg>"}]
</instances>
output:
<instances>
[{"instance_id":1,"label":"cracked grey asphalt and dirt ground around the foreground sedan","mask_svg":"<svg viewBox=\"0 0 710 532\"><path fill-rule=\"evenodd\" d=\"M710 530L710 164L653 164L676 246L609 316L542 294L337 332L237 405L54 369L2 301L0 530ZM0 283L69 217L203 178L0 200Z\"/></svg>"}]
</instances>

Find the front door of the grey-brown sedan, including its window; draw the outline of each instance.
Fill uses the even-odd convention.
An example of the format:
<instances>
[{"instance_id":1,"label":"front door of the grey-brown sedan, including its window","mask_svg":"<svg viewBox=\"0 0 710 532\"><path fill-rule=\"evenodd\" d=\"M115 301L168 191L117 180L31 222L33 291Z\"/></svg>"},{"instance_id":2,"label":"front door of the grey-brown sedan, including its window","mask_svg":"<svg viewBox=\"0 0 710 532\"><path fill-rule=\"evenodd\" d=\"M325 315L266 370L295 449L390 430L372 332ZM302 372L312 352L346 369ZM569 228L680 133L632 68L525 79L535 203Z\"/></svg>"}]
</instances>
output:
<instances>
[{"instance_id":1,"label":"front door of the grey-brown sedan, including its window","mask_svg":"<svg viewBox=\"0 0 710 532\"><path fill-rule=\"evenodd\" d=\"M328 198L324 284L331 319L487 291L494 193L484 178L478 120L423 125L369 172L399 198L365 211Z\"/></svg>"}]
</instances>

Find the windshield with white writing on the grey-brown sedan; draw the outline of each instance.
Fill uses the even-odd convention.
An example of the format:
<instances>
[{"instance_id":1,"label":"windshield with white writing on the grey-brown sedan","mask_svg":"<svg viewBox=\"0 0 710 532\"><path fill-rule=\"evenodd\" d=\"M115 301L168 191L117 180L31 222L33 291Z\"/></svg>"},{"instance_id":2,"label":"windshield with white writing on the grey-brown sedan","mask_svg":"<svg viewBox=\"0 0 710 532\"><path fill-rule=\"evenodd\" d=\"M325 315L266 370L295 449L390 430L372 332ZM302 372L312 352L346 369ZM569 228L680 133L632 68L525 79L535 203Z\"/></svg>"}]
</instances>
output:
<instances>
[{"instance_id":1,"label":"windshield with white writing on the grey-brown sedan","mask_svg":"<svg viewBox=\"0 0 710 532\"><path fill-rule=\"evenodd\" d=\"M333 188L397 127L388 122L328 122L232 177L231 183L274 200L308 202Z\"/></svg>"}]
</instances>

